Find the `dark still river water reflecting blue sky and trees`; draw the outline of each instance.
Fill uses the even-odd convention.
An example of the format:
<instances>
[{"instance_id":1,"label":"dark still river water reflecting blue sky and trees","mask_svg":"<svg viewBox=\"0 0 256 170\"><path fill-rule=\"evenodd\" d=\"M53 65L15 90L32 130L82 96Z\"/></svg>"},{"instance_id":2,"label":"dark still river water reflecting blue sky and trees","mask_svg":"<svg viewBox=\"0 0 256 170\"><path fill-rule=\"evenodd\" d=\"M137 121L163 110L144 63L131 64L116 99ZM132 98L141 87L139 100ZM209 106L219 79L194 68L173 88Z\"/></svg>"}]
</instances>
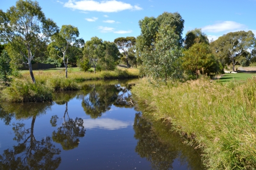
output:
<instances>
[{"instance_id":1,"label":"dark still river water reflecting blue sky and trees","mask_svg":"<svg viewBox=\"0 0 256 170\"><path fill-rule=\"evenodd\" d=\"M54 102L1 102L0 169L203 169L193 147L136 111L135 82L85 82Z\"/></svg>"}]
</instances>

